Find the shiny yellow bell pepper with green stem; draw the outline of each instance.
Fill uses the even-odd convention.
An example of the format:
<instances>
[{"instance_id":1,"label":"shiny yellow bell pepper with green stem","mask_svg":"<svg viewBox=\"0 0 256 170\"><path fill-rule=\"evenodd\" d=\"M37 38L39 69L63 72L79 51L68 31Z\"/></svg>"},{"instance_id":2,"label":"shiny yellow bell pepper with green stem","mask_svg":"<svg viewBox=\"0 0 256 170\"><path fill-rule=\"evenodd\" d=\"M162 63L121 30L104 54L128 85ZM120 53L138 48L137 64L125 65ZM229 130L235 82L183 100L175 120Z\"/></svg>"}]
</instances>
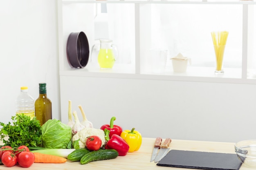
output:
<instances>
[{"instance_id":1,"label":"shiny yellow bell pepper with green stem","mask_svg":"<svg viewBox=\"0 0 256 170\"><path fill-rule=\"evenodd\" d=\"M123 138L129 145L128 152L134 152L139 150L142 142L142 137L141 134L135 130L135 128L132 128L132 130L124 130L123 132L121 132L120 137Z\"/></svg>"}]
</instances>

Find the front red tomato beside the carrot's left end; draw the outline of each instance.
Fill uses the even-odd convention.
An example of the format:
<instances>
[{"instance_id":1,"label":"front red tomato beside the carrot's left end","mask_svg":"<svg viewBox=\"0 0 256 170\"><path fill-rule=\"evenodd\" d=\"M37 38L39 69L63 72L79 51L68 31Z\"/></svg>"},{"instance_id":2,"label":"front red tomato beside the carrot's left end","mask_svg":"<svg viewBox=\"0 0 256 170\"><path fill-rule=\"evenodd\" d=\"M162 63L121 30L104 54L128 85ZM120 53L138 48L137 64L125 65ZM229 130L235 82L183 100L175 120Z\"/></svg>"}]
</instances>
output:
<instances>
[{"instance_id":1,"label":"front red tomato beside the carrot's left end","mask_svg":"<svg viewBox=\"0 0 256 170\"><path fill-rule=\"evenodd\" d=\"M35 155L33 152L20 152L18 156L18 163L21 167L29 168L35 161Z\"/></svg>"}]
</instances>

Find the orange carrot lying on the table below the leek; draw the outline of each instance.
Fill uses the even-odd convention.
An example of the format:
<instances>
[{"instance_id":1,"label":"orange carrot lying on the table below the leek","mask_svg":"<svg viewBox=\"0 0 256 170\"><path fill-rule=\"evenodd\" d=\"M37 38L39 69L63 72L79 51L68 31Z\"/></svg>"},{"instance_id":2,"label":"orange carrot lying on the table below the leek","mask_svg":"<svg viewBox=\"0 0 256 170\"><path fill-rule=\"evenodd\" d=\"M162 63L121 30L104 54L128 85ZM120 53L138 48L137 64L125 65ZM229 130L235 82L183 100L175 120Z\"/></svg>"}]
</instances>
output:
<instances>
[{"instance_id":1,"label":"orange carrot lying on the table below the leek","mask_svg":"<svg viewBox=\"0 0 256 170\"><path fill-rule=\"evenodd\" d=\"M43 153L34 152L35 161L34 163L65 163L67 161L66 158L48 155Z\"/></svg>"}]
</instances>

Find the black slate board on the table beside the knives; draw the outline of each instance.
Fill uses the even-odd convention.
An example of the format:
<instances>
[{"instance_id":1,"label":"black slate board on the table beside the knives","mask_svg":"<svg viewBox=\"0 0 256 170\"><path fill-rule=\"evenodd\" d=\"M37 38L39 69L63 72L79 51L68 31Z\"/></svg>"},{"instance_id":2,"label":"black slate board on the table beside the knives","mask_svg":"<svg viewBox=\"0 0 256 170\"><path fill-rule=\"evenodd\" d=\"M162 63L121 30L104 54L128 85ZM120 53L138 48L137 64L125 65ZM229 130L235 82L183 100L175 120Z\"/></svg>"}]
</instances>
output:
<instances>
[{"instance_id":1,"label":"black slate board on the table beside the knives","mask_svg":"<svg viewBox=\"0 0 256 170\"><path fill-rule=\"evenodd\" d=\"M242 163L236 154L170 150L157 166L203 170L239 170Z\"/></svg>"}]
</instances>

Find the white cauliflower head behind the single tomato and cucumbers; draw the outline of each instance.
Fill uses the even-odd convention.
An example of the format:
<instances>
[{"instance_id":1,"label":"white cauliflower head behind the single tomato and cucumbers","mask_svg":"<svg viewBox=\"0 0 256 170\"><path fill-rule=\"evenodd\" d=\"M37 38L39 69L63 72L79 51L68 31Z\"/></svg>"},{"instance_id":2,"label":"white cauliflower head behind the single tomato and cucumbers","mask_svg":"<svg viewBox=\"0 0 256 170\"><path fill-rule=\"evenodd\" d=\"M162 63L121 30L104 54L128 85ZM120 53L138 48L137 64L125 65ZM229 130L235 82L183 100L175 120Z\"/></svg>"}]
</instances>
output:
<instances>
[{"instance_id":1,"label":"white cauliflower head behind the single tomato and cucumbers","mask_svg":"<svg viewBox=\"0 0 256 170\"><path fill-rule=\"evenodd\" d=\"M77 132L76 135L74 135L72 137L72 142L79 140L78 141L79 147L85 148L87 137L92 136L92 135L96 135L101 138L101 147L106 144L104 131L101 129L96 129L96 128L83 128L82 130Z\"/></svg>"}]
</instances>

